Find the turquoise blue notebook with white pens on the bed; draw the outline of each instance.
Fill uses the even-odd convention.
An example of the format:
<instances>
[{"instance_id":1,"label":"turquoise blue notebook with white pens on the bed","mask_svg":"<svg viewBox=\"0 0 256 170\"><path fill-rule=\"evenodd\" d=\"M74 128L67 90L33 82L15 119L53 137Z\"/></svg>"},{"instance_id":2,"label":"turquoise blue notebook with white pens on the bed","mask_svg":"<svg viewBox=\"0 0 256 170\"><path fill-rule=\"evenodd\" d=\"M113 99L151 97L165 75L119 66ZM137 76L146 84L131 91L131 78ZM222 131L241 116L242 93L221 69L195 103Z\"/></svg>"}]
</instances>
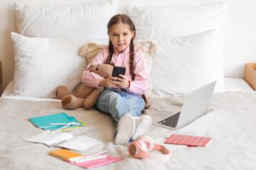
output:
<instances>
[{"instance_id":1,"label":"turquoise blue notebook with white pens on the bed","mask_svg":"<svg viewBox=\"0 0 256 170\"><path fill-rule=\"evenodd\" d=\"M80 123L73 116L68 116L66 113L43 115L36 118L29 118L28 120L30 120L31 123L36 125L38 128L43 128L44 130L56 130L63 127L63 125L49 125L49 123ZM80 123L80 125L70 125L69 128L75 126L82 126L82 123Z\"/></svg>"}]
</instances>

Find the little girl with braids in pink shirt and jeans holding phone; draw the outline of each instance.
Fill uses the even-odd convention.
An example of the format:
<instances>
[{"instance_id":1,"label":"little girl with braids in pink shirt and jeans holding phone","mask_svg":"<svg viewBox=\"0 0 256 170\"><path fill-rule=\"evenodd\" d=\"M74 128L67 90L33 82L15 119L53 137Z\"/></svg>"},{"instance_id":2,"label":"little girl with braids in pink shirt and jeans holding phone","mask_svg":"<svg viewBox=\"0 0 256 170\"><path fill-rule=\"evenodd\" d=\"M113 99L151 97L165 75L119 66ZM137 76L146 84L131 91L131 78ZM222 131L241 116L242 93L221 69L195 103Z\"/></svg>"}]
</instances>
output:
<instances>
[{"instance_id":1,"label":"little girl with braids in pink shirt and jeans holding phone","mask_svg":"<svg viewBox=\"0 0 256 170\"><path fill-rule=\"evenodd\" d=\"M82 73L82 82L87 86L105 90L100 95L96 107L114 118L117 132L114 144L125 145L137 137L152 123L149 115L142 115L145 108L142 94L149 87L149 72L145 57L138 47L134 47L135 26L131 18L125 14L113 16L107 23L109 45L104 48ZM125 75L104 79L90 72L91 64L111 64L126 67Z\"/></svg>"}]
</instances>

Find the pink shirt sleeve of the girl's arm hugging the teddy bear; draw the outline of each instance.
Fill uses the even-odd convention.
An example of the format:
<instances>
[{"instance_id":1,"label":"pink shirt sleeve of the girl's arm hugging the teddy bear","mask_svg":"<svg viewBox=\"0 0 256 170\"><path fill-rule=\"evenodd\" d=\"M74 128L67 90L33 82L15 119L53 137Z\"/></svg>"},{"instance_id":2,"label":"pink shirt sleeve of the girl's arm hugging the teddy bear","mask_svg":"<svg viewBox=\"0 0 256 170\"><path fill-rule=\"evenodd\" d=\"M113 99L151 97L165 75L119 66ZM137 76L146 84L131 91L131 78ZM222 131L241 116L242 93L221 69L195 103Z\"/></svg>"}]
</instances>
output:
<instances>
[{"instance_id":1,"label":"pink shirt sleeve of the girl's arm hugging the teddy bear","mask_svg":"<svg viewBox=\"0 0 256 170\"><path fill-rule=\"evenodd\" d=\"M99 83L103 77L100 77L98 74L94 72L90 72L90 65L92 64L104 64L105 63L105 55L108 55L108 52L106 53L106 48L102 52L100 52L88 65L84 72L82 72L82 83L86 86L91 87L99 87Z\"/></svg>"}]
</instances>

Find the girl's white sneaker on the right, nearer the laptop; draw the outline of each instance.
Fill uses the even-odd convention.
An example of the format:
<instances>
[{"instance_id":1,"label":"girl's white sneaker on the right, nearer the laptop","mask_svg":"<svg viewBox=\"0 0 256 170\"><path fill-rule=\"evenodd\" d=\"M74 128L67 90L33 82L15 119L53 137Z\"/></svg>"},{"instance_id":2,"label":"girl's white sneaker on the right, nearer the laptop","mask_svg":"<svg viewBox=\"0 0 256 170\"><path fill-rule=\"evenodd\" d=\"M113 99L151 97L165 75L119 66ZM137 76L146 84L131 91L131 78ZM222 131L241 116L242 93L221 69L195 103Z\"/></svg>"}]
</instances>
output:
<instances>
[{"instance_id":1,"label":"girl's white sneaker on the right, nearer the laptop","mask_svg":"<svg viewBox=\"0 0 256 170\"><path fill-rule=\"evenodd\" d=\"M134 131L134 135L132 135L132 140L137 140L138 137L144 135L144 132L150 127L152 124L152 118L150 115L142 115L134 117L136 122L136 128Z\"/></svg>"}]
</instances>

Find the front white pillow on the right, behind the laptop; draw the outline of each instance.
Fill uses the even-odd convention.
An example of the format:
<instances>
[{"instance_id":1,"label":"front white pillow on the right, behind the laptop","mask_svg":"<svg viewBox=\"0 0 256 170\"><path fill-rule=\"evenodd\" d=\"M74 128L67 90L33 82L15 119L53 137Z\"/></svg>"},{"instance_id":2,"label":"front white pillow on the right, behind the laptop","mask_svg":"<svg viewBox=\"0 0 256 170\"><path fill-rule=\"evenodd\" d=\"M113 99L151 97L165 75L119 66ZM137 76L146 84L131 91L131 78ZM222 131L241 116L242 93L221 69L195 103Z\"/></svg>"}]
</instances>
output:
<instances>
[{"instance_id":1,"label":"front white pillow on the right, behind the laptop","mask_svg":"<svg viewBox=\"0 0 256 170\"><path fill-rule=\"evenodd\" d=\"M216 30L169 40L156 40L158 52L152 57L151 80L156 97L187 94L218 80L215 92L224 91L219 72Z\"/></svg>"}]
</instances>

